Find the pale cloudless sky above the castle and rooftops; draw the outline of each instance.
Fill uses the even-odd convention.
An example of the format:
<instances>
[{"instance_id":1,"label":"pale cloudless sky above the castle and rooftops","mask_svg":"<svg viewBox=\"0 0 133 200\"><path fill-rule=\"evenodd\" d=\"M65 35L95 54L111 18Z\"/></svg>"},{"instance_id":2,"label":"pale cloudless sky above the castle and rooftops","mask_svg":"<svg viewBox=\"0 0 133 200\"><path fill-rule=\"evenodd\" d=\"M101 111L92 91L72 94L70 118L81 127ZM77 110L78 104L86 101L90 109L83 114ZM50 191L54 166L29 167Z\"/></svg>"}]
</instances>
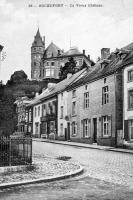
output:
<instances>
[{"instance_id":1,"label":"pale cloudless sky above the castle and rooftops","mask_svg":"<svg viewBox=\"0 0 133 200\"><path fill-rule=\"evenodd\" d=\"M49 3L63 7L39 7ZM0 0L0 44L6 52L0 80L4 83L17 70L31 78L31 45L38 26L46 47L53 41L67 51L71 43L96 61L101 48L114 51L133 42L133 0Z\"/></svg>"}]
</instances>

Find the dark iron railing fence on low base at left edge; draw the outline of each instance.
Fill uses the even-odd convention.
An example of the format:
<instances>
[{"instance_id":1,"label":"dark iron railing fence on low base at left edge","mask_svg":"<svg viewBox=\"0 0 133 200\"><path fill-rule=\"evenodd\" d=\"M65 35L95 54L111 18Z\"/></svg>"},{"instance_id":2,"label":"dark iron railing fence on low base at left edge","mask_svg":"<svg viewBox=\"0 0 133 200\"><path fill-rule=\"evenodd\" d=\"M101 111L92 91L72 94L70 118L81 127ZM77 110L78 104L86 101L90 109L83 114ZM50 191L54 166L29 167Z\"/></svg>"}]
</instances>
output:
<instances>
[{"instance_id":1,"label":"dark iron railing fence on low base at left edge","mask_svg":"<svg viewBox=\"0 0 133 200\"><path fill-rule=\"evenodd\" d=\"M32 138L24 136L0 137L0 167L32 163Z\"/></svg>"}]
</instances>

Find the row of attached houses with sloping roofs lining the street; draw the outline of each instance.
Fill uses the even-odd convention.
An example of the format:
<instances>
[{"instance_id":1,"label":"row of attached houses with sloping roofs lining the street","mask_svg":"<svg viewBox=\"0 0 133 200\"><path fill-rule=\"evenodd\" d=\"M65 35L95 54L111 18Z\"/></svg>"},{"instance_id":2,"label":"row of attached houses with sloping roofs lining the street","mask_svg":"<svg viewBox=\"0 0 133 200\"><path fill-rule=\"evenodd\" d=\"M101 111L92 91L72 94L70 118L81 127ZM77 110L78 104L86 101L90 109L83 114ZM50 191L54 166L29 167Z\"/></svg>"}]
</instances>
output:
<instances>
[{"instance_id":1,"label":"row of attached houses with sloping roofs lining the street","mask_svg":"<svg viewBox=\"0 0 133 200\"><path fill-rule=\"evenodd\" d=\"M105 50L105 52L104 52ZM107 52L107 53L106 53ZM121 146L133 140L133 44L102 49L91 68L48 88L26 106L34 137Z\"/></svg>"}]
</instances>

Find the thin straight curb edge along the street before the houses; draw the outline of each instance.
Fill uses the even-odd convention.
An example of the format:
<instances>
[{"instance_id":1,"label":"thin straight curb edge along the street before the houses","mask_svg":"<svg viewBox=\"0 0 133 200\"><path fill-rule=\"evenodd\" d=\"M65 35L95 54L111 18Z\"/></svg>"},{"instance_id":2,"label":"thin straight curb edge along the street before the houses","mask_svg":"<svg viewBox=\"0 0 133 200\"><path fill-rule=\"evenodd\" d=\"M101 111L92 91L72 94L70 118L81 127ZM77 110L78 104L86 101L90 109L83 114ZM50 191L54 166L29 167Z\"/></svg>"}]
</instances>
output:
<instances>
[{"instance_id":1,"label":"thin straight curb edge along the street before the houses","mask_svg":"<svg viewBox=\"0 0 133 200\"><path fill-rule=\"evenodd\" d=\"M37 141L37 142L46 142L46 143L53 143L53 144L60 144L60 145L66 145L66 146L72 146L72 147L80 147L80 148L86 148L86 149L97 149L97 150L102 150L102 151L112 151L112 152L118 152L118 153L127 153L127 154L133 154L133 150L129 150L129 151L124 151L124 149L119 149L119 148L114 148L114 147L107 147L107 148L97 148L97 147L91 147L91 146L82 146L82 145L76 145L76 144L66 144L66 143L60 143L57 141L44 141L44 140L36 140L33 139L33 141Z\"/></svg>"}]
</instances>

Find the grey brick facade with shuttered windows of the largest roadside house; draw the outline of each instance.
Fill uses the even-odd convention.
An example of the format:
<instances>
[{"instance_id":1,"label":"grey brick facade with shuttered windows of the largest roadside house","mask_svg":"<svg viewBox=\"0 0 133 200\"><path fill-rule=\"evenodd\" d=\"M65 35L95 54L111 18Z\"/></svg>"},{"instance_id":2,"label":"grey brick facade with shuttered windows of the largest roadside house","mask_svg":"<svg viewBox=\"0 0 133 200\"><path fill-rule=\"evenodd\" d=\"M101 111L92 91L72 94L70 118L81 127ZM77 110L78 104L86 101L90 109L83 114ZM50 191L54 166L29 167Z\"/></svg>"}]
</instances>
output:
<instances>
[{"instance_id":1,"label":"grey brick facade with shuttered windows of the largest roadside house","mask_svg":"<svg viewBox=\"0 0 133 200\"><path fill-rule=\"evenodd\" d=\"M115 146L117 130L122 129L122 119L117 116L116 79L112 74L69 90L71 141Z\"/></svg>"}]
</instances>

